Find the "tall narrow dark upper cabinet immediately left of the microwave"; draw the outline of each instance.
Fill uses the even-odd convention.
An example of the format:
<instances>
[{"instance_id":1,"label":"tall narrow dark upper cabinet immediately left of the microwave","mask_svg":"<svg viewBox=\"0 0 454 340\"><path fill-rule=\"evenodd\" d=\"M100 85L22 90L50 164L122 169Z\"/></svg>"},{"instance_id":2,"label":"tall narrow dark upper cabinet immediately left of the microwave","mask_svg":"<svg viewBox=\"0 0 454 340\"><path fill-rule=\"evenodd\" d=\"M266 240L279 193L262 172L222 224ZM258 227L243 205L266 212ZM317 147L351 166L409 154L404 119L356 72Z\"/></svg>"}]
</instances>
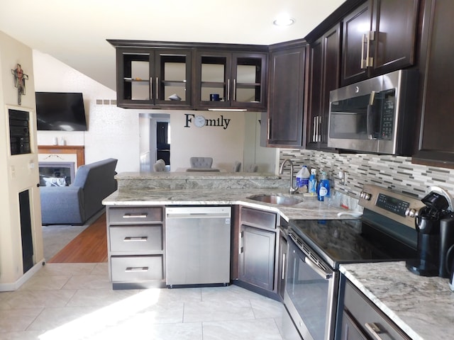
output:
<instances>
[{"instance_id":1,"label":"tall narrow dark upper cabinet immediately left of the microwave","mask_svg":"<svg viewBox=\"0 0 454 340\"><path fill-rule=\"evenodd\" d=\"M329 93L341 76L341 24L310 45L307 149L328 149Z\"/></svg>"}]
</instances>

